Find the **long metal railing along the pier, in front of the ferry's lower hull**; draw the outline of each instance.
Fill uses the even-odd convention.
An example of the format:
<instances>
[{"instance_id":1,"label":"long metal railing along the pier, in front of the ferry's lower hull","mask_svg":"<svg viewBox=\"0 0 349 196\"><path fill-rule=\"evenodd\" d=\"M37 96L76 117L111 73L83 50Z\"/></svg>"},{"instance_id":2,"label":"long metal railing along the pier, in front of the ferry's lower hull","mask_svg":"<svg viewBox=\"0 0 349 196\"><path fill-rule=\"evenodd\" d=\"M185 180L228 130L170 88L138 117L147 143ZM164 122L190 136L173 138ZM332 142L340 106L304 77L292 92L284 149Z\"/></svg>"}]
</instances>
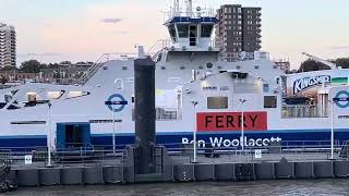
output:
<instances>
[{"instance_id":1,"label":"long metal railing along the pier, in front of the ferry's lower hull","mask_svg":"<svg viewBox=\"0 0 349 196\"><path fill-rule=\"evenodd\" d=\"M193 144L160 144L166 146L169 156L174 156L177 163L189 163L193 160ZM344 146L347 145L347 146ZM335 142L335 156L337 160L348 159L348 144L340 145ZM51 162L55 166L121 166L125 152L125 146L117 145L113 154L111 145L97 146L89 148L80 147L71 149L52 150ZM344 151L346 150L346 151ZM261 154L261 158L256 157ZM32 156L31 164L25 161L26 156ZM329 140L292 140L269 144L267 146L212 146L202 144L197 146L197 160L202 163L212 162L263 162L279 161L281 158L288 160L328 160L330 158ZM19 169L26 167L46 167L48 162L47 147L26 147L26 148L0 148L0 159L5 160L12 168Z\"/></svg>"}]
</instances>

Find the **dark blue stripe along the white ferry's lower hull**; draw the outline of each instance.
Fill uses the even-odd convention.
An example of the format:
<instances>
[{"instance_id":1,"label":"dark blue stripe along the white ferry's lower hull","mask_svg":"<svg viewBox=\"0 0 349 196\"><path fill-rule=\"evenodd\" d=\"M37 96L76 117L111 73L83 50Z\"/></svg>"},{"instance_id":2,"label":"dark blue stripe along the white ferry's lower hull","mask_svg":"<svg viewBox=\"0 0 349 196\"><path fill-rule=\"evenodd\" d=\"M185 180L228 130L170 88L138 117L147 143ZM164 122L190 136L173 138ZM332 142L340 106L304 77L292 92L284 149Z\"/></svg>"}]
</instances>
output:
<instances>
[{"instance_id":1,"label":"dark blue stripe along the white ferry's lower hull","mask_svg":"<svg viewBox=\"0 0 349 196\"><path fill-rule=\"evenodd\" d=\"M253 138L272 138L272 137L280 137L282 140L292 142L292 140L329 140L330 139L330 131L329 130L321 130L321 131L306 131L306 132L245 132L244 134L248 139ZM192 139L191 132L172 132L172 133L159 133L157 135L158 144L180 144L182 138L185 137L188 139ZM205 142L209 142L209 137L222 137L224 139L239 139L240 132L214 132L214 133L198 133L197 139L203 139ZM349 130L340 130L335 132L335 139L340 140L340 143L345 140L349 140ZM103 145L103 146L111 146L112 137L111 134L101 134L101 135L92 135L91 137L92 145ZM134 134L120 134L116 136L117 145L127 145L134 143ZM16 148L16 147L35 147L35 146L46 146L46 136L0 136L0 148Z\"/></svg>"}]
</instances>

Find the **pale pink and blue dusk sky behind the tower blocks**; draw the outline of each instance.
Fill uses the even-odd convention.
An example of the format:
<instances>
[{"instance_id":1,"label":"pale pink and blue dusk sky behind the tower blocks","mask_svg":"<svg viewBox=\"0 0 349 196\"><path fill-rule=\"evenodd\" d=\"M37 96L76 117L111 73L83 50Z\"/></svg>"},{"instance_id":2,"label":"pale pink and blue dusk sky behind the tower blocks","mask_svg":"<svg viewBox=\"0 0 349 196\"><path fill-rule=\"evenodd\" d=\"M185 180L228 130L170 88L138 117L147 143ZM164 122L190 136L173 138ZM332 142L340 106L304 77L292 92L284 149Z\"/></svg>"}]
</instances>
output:
<instances>
[{"instance_id":1,"label":"pale pink and blue dusk sky behind the tower blocks","mask_svg":"<svg viewBox=\"0 0 349 196\"><path fill-rule=\"evenodd\" d=\"M135 52L167 38L169 0L0 0L0 23L15 26L19 64L96 61L106 52ZM194 0L262 7L262 50L298 68L305 51L324 59L349 57L348 0Z\"/></svg>"}]
</instances>

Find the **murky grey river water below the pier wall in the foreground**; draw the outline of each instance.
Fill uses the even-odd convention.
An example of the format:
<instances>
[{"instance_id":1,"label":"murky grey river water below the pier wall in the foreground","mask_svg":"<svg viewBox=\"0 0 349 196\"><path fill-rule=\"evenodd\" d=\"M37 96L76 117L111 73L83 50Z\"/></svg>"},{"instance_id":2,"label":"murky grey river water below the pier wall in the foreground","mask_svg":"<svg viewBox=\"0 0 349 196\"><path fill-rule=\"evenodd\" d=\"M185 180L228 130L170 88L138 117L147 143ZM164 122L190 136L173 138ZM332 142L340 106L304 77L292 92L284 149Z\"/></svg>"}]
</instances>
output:
<instances>
[{"instance_id":1,"label":"murky grey river water below the pier wall in the foreground","mask_svg":"<svg viewBox=\"0 0 349 196\"><path fill-rule=\"evenodd\" d=\"M125 196L228 196L228 195L349 195L349 180L205 182L140 185L52 186L20 188L7 195L125 195Z\"/></svg>"}]
</instances>

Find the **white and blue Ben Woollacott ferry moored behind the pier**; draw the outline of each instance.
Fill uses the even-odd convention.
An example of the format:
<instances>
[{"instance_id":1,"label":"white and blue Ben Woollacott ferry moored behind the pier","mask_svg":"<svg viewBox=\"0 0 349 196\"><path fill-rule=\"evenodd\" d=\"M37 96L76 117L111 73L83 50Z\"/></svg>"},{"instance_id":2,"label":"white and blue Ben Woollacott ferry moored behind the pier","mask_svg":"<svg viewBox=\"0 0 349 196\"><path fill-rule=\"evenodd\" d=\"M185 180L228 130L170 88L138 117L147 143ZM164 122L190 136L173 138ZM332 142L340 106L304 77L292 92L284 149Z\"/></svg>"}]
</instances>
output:
<instances>
[{"instance_id":1,"label":"white and blue Ben Woollacott ferry moored behind the pier","mask_svg":"<svg viewBox=\"0 0 349 196\"><path fill-rule=\"evenodd\" d=\"M349 139L349 70L285 75L264 52L227 62L212 40L217 22L213 11L193 12L188 1L181 12L174 1L165 23L170 40L152 57L158 144L190 144L196 132L203 147L263 147L329 140L332 128L336 140ZM132 144L137 57L110 57L104 54L81 85L26 83L0 89L0 147ZM107 106L108 100L129 105Z\"/></svg>"}]
</instances>

